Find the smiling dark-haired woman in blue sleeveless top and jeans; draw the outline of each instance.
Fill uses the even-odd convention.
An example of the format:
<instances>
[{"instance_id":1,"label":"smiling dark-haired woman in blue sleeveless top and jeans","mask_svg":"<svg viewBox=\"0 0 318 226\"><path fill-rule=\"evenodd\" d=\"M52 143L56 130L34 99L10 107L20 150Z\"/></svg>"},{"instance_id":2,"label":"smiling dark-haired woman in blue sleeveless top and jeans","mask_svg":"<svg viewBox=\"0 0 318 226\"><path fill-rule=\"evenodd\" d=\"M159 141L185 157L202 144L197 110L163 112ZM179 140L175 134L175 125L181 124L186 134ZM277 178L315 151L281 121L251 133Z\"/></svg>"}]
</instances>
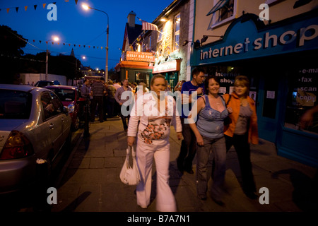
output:
<instances>
[{"instance_id":1,"label":"smiling dark-haired woman in blue sleeveless top and jeans","mask_svg":"<svg viewBox=\"0 0 318 226\"><path fill-rule=\"evenodd\" d=\"M215 76L208 76L204 87L206 94L196 101L189 114L189 124L196 136L196 192L199 198L206 200L214 159L211 198L222 206L220 188L225 178L226 161L223 121L230 109L226 109L223 97L218 95L220 83Z\"/></svg>"}]
</instances>

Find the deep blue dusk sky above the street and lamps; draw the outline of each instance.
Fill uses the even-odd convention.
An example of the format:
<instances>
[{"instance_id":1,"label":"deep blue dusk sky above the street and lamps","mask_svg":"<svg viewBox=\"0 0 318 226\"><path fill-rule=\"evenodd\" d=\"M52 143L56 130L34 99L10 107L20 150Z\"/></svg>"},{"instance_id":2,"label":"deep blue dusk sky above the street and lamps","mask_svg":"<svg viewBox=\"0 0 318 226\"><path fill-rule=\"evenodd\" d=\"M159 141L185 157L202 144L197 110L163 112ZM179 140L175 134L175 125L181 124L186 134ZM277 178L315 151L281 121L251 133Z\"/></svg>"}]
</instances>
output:
<instances>
[{"instance_id":1,"label":"deep blue dusk sky above the street and lamps","mask_svg":"<svg viewBox=\"0 0 318 226\"><path fill-rule=\"evenodd\" d=\"M136 24L141 24L138 18L152 23L172 1L78 0L76 4L75 0L0 0L0 25L6 25L28 39L28 44L23 48L25 54L45 52L48 47L52 55L69 55L73 48L75 57L81 60L83 66L105 70L107 46L105 13L107 13L110 28L108 42L110 70L116 66L121 57L120 49L122 49L129 12L136 13ZM53 13L54 9L47 8L54 2L56 13ZM85 11L82 8L83 3L105 13L95 10ZM56 16L57 20L48 20L47 16L49 18ZM47 40L52 40L53 35L59 37L59 44L57 42L52 44L52 41L46 44ZM84 56L86 59L82 58Z\"/></svg>"}]
</instances>

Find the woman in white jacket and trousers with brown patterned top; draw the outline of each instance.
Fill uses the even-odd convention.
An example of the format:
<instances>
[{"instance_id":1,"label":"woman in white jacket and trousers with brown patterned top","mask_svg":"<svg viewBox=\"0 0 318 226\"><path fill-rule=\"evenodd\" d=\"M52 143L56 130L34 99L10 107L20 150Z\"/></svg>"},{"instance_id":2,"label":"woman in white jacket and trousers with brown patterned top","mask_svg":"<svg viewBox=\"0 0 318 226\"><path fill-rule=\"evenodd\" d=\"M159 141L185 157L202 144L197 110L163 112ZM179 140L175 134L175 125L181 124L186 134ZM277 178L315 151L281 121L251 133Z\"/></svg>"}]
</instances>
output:
<instances>
[{"instance_id":1,"label":"woman in white jacket and trousers with brown patterned top","mask_svg":"<svg viewBox=\"0 0 318 226\"><path fill-rule=\"evenodd\" d=\"M138 98L132 108L135 110L129 119L127 143L134 145L137 136L136 160L141 173L141 182L136 189L137 204L141 208L147 208L150 204L154 157L157 172L156 208L161 212L172 212L177 210L177 205L169 186L170 125L175 126L179 139L182 138L182 126L176 115L175 100L172 96L163 96L165 88L165 77L160 74L153 76L153 92Z\"/></svg>"}]
</instances>

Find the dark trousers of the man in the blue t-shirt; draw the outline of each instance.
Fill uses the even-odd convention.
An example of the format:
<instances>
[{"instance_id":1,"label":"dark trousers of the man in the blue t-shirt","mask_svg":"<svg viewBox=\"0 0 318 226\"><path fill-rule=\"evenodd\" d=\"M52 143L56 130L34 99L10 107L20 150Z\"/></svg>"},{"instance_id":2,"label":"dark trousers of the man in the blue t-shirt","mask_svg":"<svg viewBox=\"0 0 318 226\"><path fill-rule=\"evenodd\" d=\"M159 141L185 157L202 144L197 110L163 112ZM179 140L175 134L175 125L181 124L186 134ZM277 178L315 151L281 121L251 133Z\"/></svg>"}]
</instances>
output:
<instances>
[{"instance_id":1,"label":"dark trousers of the man in the blue t-shirt","mask_svg":"<svg viewBox=\"0 0 318 226\"><path fill-rule=\"evenodd\" d=\"M179 168L189 170L192 169L192 161L196 155L196 136L189 124L184 123L184 118L180 117L180 120L183 140L181 142L179 156L177 157L177 165Z\"/></svg>"}]
</instances>

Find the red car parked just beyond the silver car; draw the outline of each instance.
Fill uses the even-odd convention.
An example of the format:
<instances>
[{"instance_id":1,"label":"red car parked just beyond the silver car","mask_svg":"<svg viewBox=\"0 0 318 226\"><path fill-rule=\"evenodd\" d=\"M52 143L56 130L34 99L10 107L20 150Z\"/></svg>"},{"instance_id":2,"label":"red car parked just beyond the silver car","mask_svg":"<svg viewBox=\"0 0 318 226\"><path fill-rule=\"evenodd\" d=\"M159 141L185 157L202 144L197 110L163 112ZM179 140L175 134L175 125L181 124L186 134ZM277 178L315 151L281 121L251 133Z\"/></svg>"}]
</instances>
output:
<instances>
[{"instance_id":1,"label":"red car parked just beyond the silver car","mask_svg":"<svg viewBox=\"0 0 318 226\"><path fill-rule=\"evenodd\" d=\"M82 114L78 101L81 94L78 88L70 85L49 85L45 86L45 88L52 90L59 97L63 105L69 108L69 114L72 119L71 129L73 131L78 130Z\"/></svg>"}]
</instances>

